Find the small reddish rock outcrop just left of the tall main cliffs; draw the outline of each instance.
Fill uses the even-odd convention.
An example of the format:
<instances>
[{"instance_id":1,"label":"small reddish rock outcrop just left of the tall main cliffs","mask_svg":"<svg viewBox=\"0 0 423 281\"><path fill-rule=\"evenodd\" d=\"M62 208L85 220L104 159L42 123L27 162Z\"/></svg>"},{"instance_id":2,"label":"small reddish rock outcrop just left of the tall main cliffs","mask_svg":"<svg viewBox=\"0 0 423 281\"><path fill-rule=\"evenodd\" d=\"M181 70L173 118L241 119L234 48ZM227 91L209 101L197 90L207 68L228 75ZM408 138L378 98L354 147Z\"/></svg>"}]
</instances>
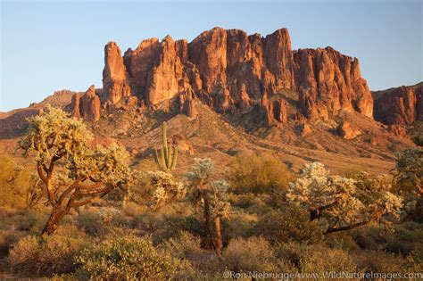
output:
<instances>
[{"instance_id":1,"label":"small reddish rock outcrop just left of the tall main cliffs","mask_svg":"<svg viewBox=\"0 0 423 281\"><path fill-rule=\"evenodd\" d=\"M100 98L95 94L95 87L92 85L84 95L79 93L72 96L71 115L95 122L100 119Z\"/></svg>"}]
</instances>

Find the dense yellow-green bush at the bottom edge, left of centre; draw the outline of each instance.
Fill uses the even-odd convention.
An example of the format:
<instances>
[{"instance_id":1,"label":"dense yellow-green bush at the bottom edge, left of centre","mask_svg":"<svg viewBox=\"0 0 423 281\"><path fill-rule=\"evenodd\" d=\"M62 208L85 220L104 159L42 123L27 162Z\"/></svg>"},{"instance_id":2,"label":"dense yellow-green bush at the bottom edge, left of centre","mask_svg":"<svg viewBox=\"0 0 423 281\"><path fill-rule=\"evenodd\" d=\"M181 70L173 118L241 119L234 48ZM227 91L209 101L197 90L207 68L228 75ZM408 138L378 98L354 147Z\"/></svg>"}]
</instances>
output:
<instances>
[{"instance_id":1,"label":"dense yellow-green bush at the bottom edge, left of centre","mask_svg":"<svg viewBox=\"0 0 423 281\"><path fill-rule=\"evenodd\" d=\"M158 252L149 237L113 237L79 255L81 269L93 279L168 279L177 266L169 254Z\"/></svg>"}]
</instances>

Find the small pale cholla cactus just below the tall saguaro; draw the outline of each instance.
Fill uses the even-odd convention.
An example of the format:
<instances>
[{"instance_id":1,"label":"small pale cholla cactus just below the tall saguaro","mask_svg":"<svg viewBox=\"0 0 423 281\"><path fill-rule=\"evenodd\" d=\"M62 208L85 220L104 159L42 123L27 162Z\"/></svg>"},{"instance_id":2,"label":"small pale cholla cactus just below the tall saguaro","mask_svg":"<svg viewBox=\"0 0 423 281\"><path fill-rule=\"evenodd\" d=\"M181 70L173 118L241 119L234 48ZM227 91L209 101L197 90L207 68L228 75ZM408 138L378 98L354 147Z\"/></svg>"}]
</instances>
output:
<instances>
[{"instance_id":1,"label":"small pale cholla cactus just below the tall saguaro","mask_svg":"<svg viewBox=\"0 0 423 281\"><path fill-rule=\"evenodd\" d=\"M171 200L181 199L186 194L186 188L183 183L178 182L172 174L162 170L150 171L151 184L155 187L153 199L155 202L154 210L158 211L163 205Z\"/></svg>"}]
</instances>

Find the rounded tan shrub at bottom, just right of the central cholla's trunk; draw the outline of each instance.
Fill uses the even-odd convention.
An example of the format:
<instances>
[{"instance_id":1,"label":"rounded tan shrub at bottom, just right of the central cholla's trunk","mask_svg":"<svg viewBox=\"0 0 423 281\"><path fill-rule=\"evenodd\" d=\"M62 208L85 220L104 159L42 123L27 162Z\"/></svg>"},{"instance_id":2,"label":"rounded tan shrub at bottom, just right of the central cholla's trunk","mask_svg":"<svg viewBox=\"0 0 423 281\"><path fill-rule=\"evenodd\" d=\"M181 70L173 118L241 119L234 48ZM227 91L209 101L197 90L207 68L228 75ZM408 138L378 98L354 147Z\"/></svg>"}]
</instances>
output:
<instances>
[{"instance_id":1,"label":"rounded tan shrub at bottom, just right of the central cholla's trunk","mask_svg":"<svg viewBox=\"0 0 423 281\"><path fill-rule=\"evenodd\" d=\"M223 251L228 270L234 272L273 271L276 269L270 243L261 237L231 240Z\"/></svg>"}]
</instances>

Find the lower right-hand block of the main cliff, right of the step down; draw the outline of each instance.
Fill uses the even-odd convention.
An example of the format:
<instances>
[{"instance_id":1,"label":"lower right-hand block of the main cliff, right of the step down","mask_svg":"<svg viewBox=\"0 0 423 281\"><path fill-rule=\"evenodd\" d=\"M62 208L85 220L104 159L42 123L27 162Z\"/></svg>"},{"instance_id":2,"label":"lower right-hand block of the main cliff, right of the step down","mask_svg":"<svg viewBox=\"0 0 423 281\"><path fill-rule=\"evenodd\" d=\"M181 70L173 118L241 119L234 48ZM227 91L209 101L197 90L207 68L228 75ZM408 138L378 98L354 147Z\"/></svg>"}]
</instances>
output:
<instances>
[{"instance_id":1,"label":"lower right-hand block of the main cliff, right of the step down","mask_svg":"<svg viewBox=\"0 0 423 281\"><path fill-rule=\"evenodd\" d=\"M340 110L373 116L373 99L358 59L331 47L300 49L294 52L294 73L294 89L308 118L328 118Z\"/></svg>"}]
</instances>

